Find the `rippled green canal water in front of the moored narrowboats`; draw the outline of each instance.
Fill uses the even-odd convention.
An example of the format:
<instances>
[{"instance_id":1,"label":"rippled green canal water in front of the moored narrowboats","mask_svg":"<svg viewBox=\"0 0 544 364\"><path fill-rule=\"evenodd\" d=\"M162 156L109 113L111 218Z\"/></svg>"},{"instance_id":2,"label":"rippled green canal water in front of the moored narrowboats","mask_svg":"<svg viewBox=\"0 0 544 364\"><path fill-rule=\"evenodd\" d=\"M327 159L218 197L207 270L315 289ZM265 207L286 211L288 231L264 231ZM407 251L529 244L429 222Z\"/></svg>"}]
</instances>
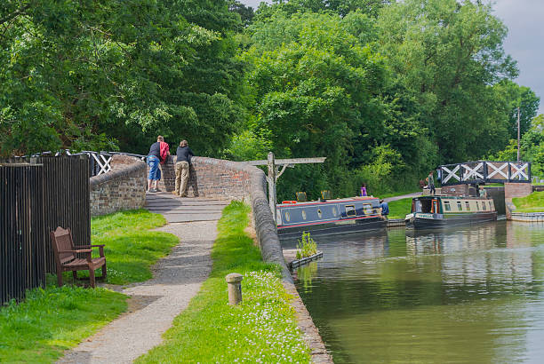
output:
<instances>
[{"instance_id":1,"label":"rippled green canal water in front of the moored narrowboats","mask_svg":"<svg viewBox=\"0 0 544 364\"><path fill-rule=\"evenodd\" d=\"M316 241L296 285L336 363L544 362L543 224Z\"/></svg>"}]
</instances>

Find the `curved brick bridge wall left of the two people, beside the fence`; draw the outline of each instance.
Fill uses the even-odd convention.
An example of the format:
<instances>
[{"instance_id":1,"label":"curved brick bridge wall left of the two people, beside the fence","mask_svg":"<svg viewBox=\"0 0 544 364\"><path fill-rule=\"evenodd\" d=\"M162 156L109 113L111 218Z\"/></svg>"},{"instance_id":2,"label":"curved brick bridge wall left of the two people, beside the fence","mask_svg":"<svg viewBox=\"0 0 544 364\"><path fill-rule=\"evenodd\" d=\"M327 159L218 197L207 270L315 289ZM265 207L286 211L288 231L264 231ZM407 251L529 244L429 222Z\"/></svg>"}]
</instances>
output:
<instances>
[{"instance_id":1,"label":"curved brick bridge wall left of the two people, beside the fence","mask_svg":"<svg viewBox=\"0 0 544 364\"><path fill-rule=\"evenodd\" d=\"M112 170L91 178L91 215L140 209L146 202L146 163L128 155L114 155Z\"/></svg>"}]
</instances>

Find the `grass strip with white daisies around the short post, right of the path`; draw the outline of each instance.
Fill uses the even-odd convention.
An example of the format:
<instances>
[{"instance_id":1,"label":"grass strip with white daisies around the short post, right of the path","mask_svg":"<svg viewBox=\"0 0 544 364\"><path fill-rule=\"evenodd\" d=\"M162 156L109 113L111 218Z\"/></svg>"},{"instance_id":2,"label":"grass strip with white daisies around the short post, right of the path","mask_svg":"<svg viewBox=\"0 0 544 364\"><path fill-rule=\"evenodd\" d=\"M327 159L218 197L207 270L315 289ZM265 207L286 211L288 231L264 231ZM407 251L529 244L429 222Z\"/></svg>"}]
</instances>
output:
<instances>
[{"instance_id":1,"label":"grass strip with white daisies around the short post, right of the path","mask_svg":"<svg viewBox=\"0 0 544 364\"><path fill-rule=\"evenodd\" d=\"M137 360L148 362L309 362L276 265L263 263L244 233L249 207L223 210L212 249L212 273L164 334L164 343ZM244 275L243 302L228 305L225 276Z\"/></svg>"}]
</instances>

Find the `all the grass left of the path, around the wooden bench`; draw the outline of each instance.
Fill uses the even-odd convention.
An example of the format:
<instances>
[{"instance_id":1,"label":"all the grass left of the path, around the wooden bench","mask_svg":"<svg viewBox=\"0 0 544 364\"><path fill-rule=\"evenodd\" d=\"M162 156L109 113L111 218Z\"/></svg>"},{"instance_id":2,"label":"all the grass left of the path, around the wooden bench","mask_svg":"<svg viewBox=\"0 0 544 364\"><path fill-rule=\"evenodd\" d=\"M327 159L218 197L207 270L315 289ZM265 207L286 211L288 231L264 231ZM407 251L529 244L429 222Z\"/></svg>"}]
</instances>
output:
<instances>
[{"instance_id":1,"label":"all the grass left of the path, around the wooden bench","mask_svg":"<svg viewBox=\"0 0 544 364\"><path fill-rule=\"evenodd\" d=\"M149 231L165 222L148 210L92 218L92 243L106 244L109 283L151 278L150 266L179 242L170 233ZM70 285L59 288L52 283L54 277L47 278L46 289L29 290L19 305L12 302L0 308L0 362L57 360L63 351L126 310L121 293ZM65 281L72 282L71 274L65 273Z\"/></svg>"}]
</instances>

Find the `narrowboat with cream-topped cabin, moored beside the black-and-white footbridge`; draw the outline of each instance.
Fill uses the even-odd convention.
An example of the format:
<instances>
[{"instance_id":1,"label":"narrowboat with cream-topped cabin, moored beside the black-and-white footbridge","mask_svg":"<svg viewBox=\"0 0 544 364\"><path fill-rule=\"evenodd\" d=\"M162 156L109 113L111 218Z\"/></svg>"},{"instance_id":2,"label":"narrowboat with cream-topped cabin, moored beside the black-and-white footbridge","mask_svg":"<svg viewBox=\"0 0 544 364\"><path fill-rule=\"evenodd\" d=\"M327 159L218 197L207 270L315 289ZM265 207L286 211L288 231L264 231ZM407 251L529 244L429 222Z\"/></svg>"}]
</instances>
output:
<instances>
[{"instance_id":1,"label":"narrowboat with cream-topped cabin, moored beside the black-and-white footbridge","mask_svg":"<svg viewBox=\"0 0 544 364\"><path fill-rule=\"evenodd\" d=\"M415 229L476 224L497 220L492 199L484 197L431 195L412 199L406 227Z\"/></svg>"}]
</instances>

